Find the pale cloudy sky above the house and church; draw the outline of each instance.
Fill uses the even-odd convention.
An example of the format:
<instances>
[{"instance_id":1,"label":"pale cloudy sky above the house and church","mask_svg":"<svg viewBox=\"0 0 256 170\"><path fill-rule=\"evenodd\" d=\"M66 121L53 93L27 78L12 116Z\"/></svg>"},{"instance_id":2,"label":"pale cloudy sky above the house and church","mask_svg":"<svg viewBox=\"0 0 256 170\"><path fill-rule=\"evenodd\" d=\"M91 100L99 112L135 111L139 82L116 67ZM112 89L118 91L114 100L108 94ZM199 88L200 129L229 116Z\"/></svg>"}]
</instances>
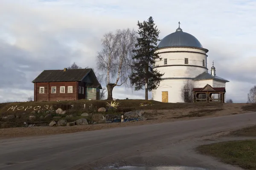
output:
<instances>
[{"instance_id":1,"label":"pale cloudy sky above the house and church","mask_svg":"<svg viewBox=\"0 0 256 170\"><path fill-rule=\"evenodd\" d=\"M26 101L43 70L76 62L96 68L101 39L152 16L160 39L184 32L209 49L208 68L226 83L226 99L247 102L256 85L256 0L0 0L0 102ZM103 85L104 86L104 85ZM115 87L113 98L143 99ZM151 98L151 96L149 96Z\"/></svg>"}]
</instances>

